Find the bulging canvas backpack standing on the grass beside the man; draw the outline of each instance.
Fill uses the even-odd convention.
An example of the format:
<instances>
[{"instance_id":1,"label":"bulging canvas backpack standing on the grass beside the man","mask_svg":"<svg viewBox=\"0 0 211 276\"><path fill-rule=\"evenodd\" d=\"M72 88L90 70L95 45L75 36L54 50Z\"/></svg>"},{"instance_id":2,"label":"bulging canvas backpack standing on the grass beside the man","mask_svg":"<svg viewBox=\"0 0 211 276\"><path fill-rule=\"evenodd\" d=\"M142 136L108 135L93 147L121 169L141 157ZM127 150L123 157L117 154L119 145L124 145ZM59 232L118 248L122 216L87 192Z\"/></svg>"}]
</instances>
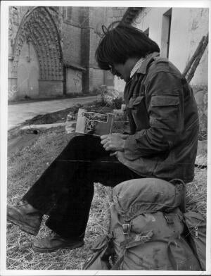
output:
<instances>
[{"instance_id":1,"label":"bulging canvas backpack standing on the grass beside the man","mask_svg":"<svg viewBox=\"0 0 211 276\"><path fill-rule=\"evenodd\" d=\"M113 189L110 231L90 249L83 269L201 270L186 239L190 217L181 213L180 204L177 189L164 180L118 184Z\"/></svg>"}]
</instances>

